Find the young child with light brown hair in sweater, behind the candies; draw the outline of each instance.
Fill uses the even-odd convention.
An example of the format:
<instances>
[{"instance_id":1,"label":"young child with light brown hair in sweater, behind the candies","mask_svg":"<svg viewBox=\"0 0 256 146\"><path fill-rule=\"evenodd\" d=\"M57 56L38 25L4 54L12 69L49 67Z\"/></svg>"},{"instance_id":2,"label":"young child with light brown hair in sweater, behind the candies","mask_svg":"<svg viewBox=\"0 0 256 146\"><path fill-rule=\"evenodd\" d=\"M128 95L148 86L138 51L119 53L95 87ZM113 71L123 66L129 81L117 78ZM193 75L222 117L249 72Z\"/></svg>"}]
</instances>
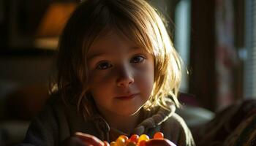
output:
<instances>
[{"instance_id":1,"label":"young child with light brown hair in sweater, behind the candies","mask_svg":"<svg viewBox=\"0 0 256 146\"><path fill-rule=\"evenodd\" d=\"M146 1L84 0L59 40L58 92L22 145L107 145L157 131L166 139L148 145L195 145L175 113L180 82L180 58Z\"/></svg>"}]
</instances>

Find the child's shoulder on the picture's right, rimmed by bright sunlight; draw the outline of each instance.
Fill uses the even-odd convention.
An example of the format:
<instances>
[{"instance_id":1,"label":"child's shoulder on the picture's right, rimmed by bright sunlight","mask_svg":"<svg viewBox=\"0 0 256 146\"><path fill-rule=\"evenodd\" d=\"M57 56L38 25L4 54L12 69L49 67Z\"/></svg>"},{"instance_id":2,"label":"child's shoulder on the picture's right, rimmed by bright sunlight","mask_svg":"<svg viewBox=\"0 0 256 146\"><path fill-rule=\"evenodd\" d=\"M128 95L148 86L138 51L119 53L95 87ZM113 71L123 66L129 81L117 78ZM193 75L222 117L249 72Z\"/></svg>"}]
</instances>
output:
<instances>
[{"instance_id":1,"label":"child's shoulder on the picture's right, rimmed by bright sunlight","mask_svg":"<svg viewBox=\"0 0 256 146\"><path fill-rule=\"evenodd\" d=\"M177 145L195 145L192 134L187 124L176 113L161 124L161 131L165 134L165 138L170 139Z\"/></svg>"}]
</instances>

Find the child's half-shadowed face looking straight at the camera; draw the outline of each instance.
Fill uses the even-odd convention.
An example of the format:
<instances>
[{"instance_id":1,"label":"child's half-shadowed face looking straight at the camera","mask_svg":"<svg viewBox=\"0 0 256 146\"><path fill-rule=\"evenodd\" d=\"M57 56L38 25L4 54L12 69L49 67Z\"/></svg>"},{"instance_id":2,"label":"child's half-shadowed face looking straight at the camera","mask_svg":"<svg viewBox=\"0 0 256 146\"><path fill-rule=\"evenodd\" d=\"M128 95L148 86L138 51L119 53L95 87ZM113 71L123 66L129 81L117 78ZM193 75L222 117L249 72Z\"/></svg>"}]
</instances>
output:
<instances>
[{"instance_id":1,"label":"child's half-shadowed face looking straight at the camera","mask_svg":"<svg viewBox=\"0 0 256 146\"><path fill-rule=\"evenodd\" d=\"M89 91L103 115L132 115L146 103L154 84L154 58L116 33L89 50Z\"/></svg>"}]
</instances>

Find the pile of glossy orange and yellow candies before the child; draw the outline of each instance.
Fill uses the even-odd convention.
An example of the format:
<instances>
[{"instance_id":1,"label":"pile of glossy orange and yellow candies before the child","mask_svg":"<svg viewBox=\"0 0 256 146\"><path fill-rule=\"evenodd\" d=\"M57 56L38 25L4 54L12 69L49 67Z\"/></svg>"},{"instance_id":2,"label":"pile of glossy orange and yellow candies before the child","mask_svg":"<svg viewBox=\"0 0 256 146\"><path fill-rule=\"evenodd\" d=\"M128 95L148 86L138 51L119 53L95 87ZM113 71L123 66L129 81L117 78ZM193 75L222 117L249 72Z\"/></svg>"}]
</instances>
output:
<instances>
[{"instance_id":1,"label":"pile of glossy orange and yellow candies before the child","mask_svg":"<svg viewBox=\"0 0 256 146\"><path fill-rule=\"evenodd\" d=\"M164 139L164 134L157 132L154 134L153 139ZM140 137L137 134L133 134L130 138L121 135L116 139L116 142L110 142L110 146L145 146L148 140L151 139L146 134L142 134Z\"/></svg>"}]
</instances>

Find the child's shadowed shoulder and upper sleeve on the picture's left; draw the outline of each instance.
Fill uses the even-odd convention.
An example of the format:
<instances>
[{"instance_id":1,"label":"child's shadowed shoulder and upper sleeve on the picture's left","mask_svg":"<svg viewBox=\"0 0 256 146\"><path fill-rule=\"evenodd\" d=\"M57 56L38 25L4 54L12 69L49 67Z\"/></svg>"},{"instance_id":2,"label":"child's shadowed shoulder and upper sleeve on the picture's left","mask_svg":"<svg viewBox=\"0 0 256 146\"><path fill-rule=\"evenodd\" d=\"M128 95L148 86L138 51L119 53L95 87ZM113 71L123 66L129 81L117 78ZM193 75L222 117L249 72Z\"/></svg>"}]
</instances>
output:
<instances>
[{"instance_id":1,"label":"child's shadowed shoulder and upper sleeve on the picture's left","mask_svg":"<svg viewBox=\"0 0 256 146\"><path fill-rule=\"evenodd\" d=\"M73 116L73 117L72 117ZM75 110L67 107L58 95L50 96L31 121L24 142L35 145L59 145L70 136L70 121L77 120Z\"/></svg>"}]
</instances>

